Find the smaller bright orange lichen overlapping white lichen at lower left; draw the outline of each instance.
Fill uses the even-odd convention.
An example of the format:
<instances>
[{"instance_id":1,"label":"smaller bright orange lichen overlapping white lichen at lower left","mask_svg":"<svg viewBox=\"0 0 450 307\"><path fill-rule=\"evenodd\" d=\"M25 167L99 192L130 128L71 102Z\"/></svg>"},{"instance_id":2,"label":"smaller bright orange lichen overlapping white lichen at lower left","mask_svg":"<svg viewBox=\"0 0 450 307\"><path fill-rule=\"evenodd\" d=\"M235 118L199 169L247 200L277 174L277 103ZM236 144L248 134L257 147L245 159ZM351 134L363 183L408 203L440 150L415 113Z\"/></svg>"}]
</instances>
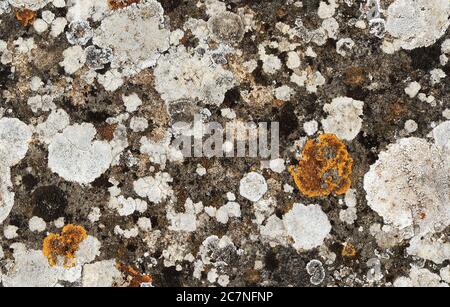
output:
<instances>
[{"instance_id":1,"label":"smaller bright orange lichen overlapping white lichen at lower left","mask_svg":"<svg viewBox=\"0 0 450 307\"><path fill-rule=\"evenodd\" d=\"M51 266L57 264L58 257L64 257L64 267L73 267L75 253L86 238L87 232L82 226L69 224L64 226L61 234L51 233L44 239L42 252Z\"/></svg>"}]
</instances>

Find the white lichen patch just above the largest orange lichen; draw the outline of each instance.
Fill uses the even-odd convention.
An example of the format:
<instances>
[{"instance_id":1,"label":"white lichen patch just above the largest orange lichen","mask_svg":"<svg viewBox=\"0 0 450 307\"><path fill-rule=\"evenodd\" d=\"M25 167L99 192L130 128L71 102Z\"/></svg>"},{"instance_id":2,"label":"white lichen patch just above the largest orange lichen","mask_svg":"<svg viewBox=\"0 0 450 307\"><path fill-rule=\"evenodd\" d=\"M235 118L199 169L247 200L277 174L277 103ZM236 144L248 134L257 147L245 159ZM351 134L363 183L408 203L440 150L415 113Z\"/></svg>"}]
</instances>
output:
<instances>
[{"instance_id":1,"label":"white lichen patch just above the largest orange lichen","mask_svg":"<svg viewBox=\"0 0 450 307\"><path fill-rule=\"evenodd\" d=\"M326 133L335 134L338 138L351 141L361 130L364 102L348 97L333 99L331 104L323 108L329 115L322 120Z\"/></svg>"}]
</instances>

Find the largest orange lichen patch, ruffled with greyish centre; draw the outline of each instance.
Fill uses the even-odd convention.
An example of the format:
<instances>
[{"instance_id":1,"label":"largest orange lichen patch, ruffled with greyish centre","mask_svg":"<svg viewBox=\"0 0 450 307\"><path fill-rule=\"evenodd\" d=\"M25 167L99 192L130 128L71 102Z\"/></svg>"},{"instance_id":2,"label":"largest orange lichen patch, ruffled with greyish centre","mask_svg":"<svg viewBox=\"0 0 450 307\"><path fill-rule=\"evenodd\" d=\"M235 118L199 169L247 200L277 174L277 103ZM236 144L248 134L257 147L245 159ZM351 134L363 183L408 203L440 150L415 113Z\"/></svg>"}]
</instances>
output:
<instances>
[{"instance_id":1,"label":"largest orange lichen patch, ruffled with greyish centre","mask_svg":"<svg viewBox=\"0 0 450 307\"><path fill-rule=\"evenodd\" d=\"M334 134L322 134L318 141L308 140L303 159L289 172L308 197L342 195L350 189L353 160L347 148Z\"/></svg>"}]
</instances>

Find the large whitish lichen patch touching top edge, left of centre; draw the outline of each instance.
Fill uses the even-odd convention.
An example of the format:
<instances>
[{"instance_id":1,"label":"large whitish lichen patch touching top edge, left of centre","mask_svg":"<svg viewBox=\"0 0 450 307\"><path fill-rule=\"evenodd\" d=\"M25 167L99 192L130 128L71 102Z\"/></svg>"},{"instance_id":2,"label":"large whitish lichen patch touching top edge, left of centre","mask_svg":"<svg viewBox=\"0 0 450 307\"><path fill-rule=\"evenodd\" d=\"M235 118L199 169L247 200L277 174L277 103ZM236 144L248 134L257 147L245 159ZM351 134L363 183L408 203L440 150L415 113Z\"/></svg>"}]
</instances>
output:
<instances>
[{"instance_id":1,"label":"large whitish lichen patch touching top edge, left of centre","mask_svg":"<svg viewBox=\"0 0 450 307\"><path fill-rule=\"evenodd\" d=\"M156 64L169 49L170 31L164 27L164 10L149 0L113 12L95 31L93 42L113 50L111 67L123 75L135 74Z\"/></svg>"}]
</instances>

